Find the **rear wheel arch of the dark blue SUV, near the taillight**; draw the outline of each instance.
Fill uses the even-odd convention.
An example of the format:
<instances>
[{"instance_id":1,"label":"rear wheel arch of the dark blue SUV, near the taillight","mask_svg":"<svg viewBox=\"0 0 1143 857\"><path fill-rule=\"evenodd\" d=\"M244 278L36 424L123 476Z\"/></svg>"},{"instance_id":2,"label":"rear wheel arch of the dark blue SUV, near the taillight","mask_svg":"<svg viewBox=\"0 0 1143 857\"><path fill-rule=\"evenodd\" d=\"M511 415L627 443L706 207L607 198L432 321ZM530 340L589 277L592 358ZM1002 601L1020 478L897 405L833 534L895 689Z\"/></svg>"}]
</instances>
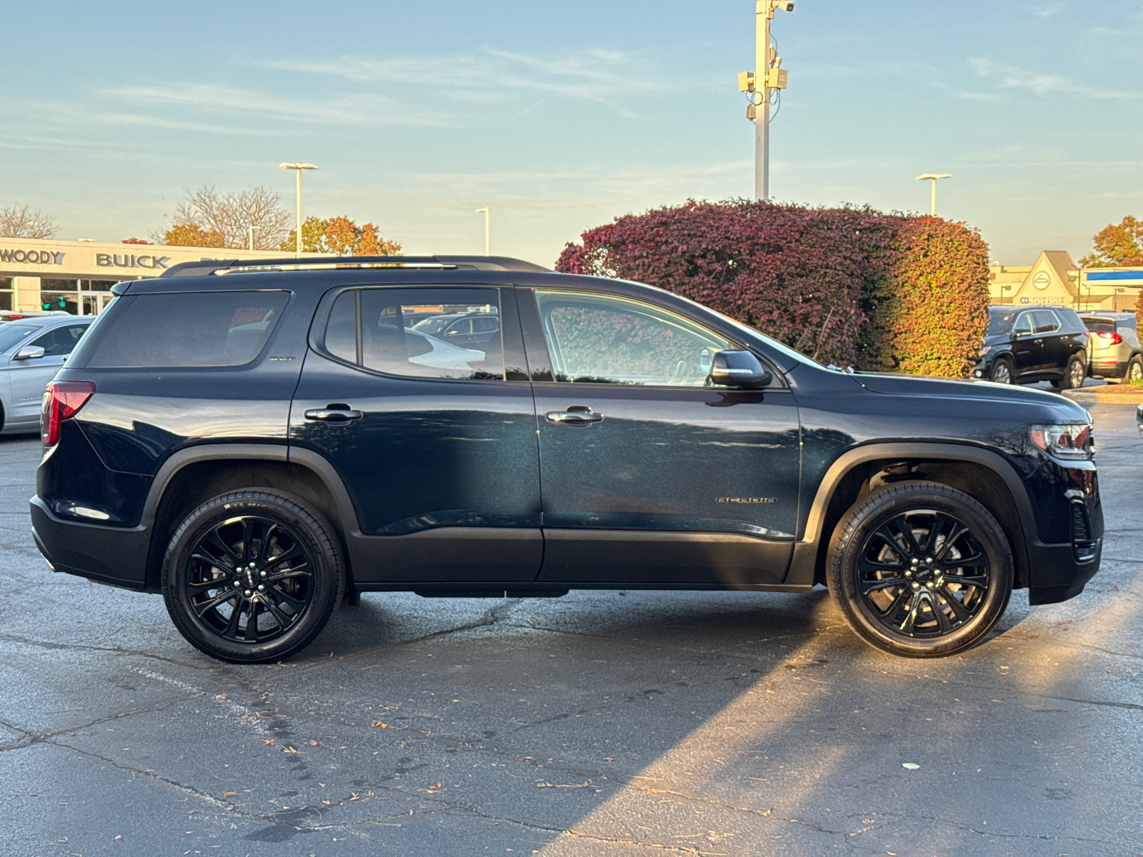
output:
<instances>
[{"instance_id":1,"label":"rear wheel arch of the dark blue SUV, near the taillight","mask_svg":"<svg viewBox=\"0 0 1143 857\"><path fill-rule=\"evenodd\" d=\"M162 558L179 522L211 497L245 488L290 494L321 512L341 540L352 583L347 538L359 531L357 512L341 475L326 458L285 444L211 443L170 456L151 484L141 519L151 531L147 592L161 588Z\"/></svg>"}]
</instances>

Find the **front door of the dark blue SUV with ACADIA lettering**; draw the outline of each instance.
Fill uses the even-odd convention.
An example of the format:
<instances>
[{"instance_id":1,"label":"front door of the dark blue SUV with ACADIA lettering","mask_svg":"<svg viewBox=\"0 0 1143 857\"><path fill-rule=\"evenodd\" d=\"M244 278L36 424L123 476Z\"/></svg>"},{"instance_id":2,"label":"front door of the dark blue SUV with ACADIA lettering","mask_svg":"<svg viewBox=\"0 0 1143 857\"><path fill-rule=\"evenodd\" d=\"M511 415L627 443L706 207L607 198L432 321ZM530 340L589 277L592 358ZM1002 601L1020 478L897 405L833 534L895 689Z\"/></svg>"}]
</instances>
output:
<instances>
[{"instance_id":1,"label":"front door of the dark blue SUV with ACADIA lettering","mask_svg":"<svg viewBox=\"0 0 1143 857\"><path fill-rule=\"evenodd\" d=\"M706 386L737 347L672 312L521 289L550 583L781 583L798 520L792 393ZM542 333L539 333L542 331ZM533 359L537 346L544 353ZM536 369L551 361L551 381ZM778 382L780 384L780 382Z\"/></svg>"}]
</instances>

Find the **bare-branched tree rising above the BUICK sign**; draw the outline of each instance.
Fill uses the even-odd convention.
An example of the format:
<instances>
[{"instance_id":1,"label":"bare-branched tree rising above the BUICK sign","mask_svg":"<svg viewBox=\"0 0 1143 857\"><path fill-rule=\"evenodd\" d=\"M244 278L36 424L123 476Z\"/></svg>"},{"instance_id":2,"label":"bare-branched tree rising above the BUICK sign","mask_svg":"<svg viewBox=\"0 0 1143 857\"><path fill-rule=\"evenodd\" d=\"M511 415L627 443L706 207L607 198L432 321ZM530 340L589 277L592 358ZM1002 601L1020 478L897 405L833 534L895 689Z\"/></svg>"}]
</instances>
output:
<instances>
[{"instance_id":1,"label":"bare-branched tree rising above the BUICK sign","mask_svg":"<svg viewBox=\"0 0 1143 857\"><path fill-rule=\"evenodd\" d=\"M248 247L254 226L254 249L273 250L289 233L290 214L278 193L269 187L251 187L240 193L218 193L203 185L178 203L173 223L152 235L162 243L171 238L199 232L221 237L223 247ZM190 227L190 229L187 229ZM217 243L211 243L217 246Z\"/></svg>"}]
</instances>

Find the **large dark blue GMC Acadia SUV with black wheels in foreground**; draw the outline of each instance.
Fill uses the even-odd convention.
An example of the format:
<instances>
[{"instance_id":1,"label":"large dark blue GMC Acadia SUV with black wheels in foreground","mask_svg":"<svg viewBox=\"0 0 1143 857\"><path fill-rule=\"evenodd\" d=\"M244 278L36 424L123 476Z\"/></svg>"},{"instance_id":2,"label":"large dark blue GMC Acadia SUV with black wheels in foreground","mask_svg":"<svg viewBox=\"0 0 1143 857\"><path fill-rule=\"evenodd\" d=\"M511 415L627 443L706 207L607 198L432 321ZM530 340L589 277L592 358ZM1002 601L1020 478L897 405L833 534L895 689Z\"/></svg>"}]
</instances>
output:
<instances>
[{"instance_id":1,"label":"large dark blue GMC Acadia SUV with black wheels in foreground","mask_svg":"<svg viewBox=\"0 0 1143 857\"><path fill-rule=\"evenodd\" d=\"M235 663L365 591L828 584L887 651L961 651L1100 564L1090 418L840 371L633 282L462 257L184 264L115 287L45 399L35 542L161 592ZM411 328L495 313L457 347Z\"/></svg>"}]
</instances>

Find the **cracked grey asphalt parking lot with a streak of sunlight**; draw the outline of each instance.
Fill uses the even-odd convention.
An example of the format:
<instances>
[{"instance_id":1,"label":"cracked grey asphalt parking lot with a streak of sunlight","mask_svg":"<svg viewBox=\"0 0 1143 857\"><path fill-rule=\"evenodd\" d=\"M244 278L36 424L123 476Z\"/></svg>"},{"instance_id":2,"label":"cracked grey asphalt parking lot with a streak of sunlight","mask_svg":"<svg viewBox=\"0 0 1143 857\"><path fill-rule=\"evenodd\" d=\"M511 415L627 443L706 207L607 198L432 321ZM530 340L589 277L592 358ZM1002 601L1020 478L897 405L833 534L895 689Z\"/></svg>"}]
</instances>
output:
<instances>
[{"instance_id":1,"label":"cracked grey asphalt parking lot with a streak of sunlight","mask_svg":"<svg viewBox=\"0 0 1143 857\"><path fill-rule=\"evenodd\" d=\"M1077 599L906 660L809 595L367 594L232 666L49 571L0 439L3 855L1143 855L1143 440Z\"/></svg>"}]
</instances>

